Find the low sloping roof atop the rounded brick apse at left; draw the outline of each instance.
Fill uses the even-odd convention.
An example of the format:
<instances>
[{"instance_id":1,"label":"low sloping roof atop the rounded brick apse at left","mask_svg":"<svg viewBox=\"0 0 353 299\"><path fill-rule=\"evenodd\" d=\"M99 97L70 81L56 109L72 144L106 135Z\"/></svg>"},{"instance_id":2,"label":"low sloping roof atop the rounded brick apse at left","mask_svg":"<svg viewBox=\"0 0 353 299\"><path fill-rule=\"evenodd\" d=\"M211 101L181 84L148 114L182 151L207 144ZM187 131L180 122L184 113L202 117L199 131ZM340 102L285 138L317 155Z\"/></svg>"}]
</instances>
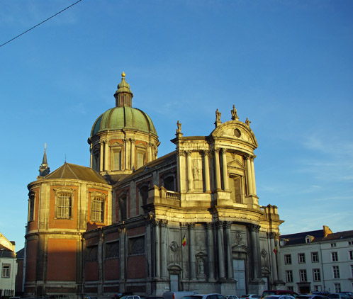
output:
<instances>
[{"instance_id":1,"label":"low sloping roof atop the rounded brick apse at left","mask_svg":"<svg viewBox=\"0 0 353 299\"><path fill-rule=\"evenodd\" d=\"M67 162L55 171L52 171L52 173L47 174L45 179L77 179L81 181L108 184L103 176L94 169Z\"/></svg>"}]
</instances>

